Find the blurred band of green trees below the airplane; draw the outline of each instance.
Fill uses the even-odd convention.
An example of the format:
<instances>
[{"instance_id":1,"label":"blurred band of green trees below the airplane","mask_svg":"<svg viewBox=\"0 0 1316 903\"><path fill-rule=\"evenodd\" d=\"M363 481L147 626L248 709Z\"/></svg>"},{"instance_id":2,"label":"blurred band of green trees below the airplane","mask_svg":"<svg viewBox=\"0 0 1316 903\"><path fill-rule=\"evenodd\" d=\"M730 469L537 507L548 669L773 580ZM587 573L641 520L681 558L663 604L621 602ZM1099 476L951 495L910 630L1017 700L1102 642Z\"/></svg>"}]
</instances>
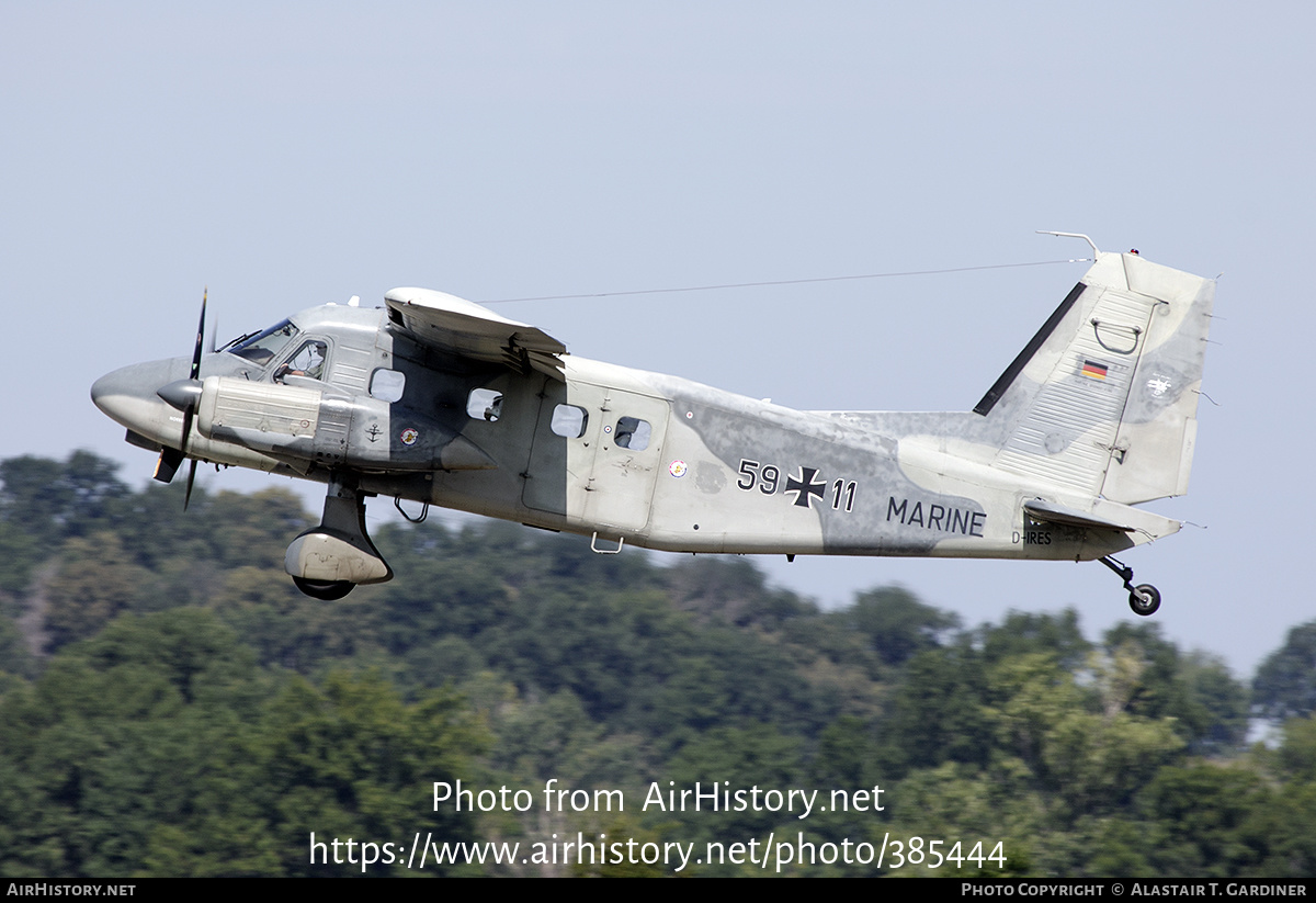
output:
<instances>
[{"instance_id":1,"label":"blurred band of green trees below the airplane","mask_svg":"<svg viewBox=\"0 0 1316 903\"><path fill-rule=\"evenodd\" d=\"M821 611L746 558L595 555L501 523L390 524L393 582L324 603L283 491L134 490L0 462L0 874L361 874L308 837L998 841L1004 861L790 874L1309 875L1316 621L1248 682L1154 623L965 625L907 590ZM1249 744L1263 719L1277 740ZM886 808L455 812L467 787L883 787ZM786 836L782 833L782 836ZM695 874L758 871L704 864ZM380 864L370 874L401 874ZM670 874L486 864L425 874Z\"/></svg>"}]
</instances>

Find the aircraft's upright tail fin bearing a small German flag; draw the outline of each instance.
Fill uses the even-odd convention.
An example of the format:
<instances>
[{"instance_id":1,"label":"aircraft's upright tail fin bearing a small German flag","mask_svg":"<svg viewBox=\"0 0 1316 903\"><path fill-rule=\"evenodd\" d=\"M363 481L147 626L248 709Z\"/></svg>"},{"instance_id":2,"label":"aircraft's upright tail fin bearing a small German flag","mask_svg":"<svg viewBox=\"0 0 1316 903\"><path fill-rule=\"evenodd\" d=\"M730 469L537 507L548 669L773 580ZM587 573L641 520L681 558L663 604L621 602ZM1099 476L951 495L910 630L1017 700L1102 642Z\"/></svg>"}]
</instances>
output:
<instances>
[{"instance_id":1,"label":"aircraft's upright tail fin bearing a small German flag","mask_svg":"<svg viewBox=\"0 0 1316 903\"><path fill-rule=\"evenodd\" d=\"M1188 487L1215 282L1101 254L974 411L995 466L1133 504Z\"/></svg>"}]
</instances>

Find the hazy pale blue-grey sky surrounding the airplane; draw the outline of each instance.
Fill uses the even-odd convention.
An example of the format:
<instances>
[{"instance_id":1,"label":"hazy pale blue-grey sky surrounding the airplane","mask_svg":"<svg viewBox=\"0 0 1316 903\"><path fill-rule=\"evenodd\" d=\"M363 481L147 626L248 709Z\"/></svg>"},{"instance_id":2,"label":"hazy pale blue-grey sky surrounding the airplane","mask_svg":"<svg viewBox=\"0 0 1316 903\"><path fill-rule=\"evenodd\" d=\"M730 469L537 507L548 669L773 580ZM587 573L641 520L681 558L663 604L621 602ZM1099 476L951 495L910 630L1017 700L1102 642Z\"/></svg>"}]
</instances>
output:
<instances>
[{"instance_id":1,"label":"hazy pale blue-grey sky surrounding the airplane","mask_svg":"<svg viewBox=\"0 0 1316 903\"><path fill-rule=\"evenodd\" d=\"M91 405L221 338L472 300L1082 257L1223 272L1192 521L1128 555L1246 674L1316 617L1304 384L1316 13L1296 3L0 5L0 455L151 461ZM1083 265L499 305L574 354L801 408L966 409ZM212 488L291 486L234 471ZM376 503L371 516L384 516ZM1132 619L1096 563L797 559L967 623Z\"/></svg>"}]
</instances>

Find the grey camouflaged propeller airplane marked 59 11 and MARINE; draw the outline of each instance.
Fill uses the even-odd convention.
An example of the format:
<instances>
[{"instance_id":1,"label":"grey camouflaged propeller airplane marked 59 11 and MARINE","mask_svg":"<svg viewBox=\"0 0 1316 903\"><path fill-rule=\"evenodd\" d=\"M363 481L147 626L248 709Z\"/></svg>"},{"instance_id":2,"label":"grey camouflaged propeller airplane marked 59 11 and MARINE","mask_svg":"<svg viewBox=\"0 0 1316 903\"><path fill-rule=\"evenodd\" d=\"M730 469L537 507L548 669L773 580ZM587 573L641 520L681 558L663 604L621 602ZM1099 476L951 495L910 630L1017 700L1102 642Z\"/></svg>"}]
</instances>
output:
<instances>
[{"instance_id":1,"label":"grey camouflaged propeller airplane marked 59 11 and MARINE","mask_svg":"<svg viewBox=\"0 0 1316 903\"><path fill-rule=\"evenodd\" d=\"M1115 555L1180 523L1215 282L1101 253L965 412L795 411L572 357L544 330L443 292L325 304L191 359L136 363L95 404L159 453L325 483L288 546L304 594L392 569L366 499L683 553L1100 561L1129 606L1159 591ZM421 503L418 516L401 507Z\"/></svg>"}]
</instances>

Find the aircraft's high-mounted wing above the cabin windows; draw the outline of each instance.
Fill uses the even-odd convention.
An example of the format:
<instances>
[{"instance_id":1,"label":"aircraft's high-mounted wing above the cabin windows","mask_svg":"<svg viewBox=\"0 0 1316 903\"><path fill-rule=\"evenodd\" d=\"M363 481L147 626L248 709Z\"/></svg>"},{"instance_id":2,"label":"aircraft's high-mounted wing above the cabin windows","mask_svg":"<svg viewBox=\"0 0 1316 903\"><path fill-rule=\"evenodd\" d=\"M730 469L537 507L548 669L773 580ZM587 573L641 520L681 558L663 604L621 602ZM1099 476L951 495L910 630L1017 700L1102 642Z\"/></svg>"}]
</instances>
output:
<instances>
[{"instance_id":1,"label":"aircraft's high-mounted wing above the cabin windows","mask_svg":"<svg viewBox=\"0 0 1316 903\"><path fill-rule=\"evenodd\" d=\"M393 288L384 295L388 320L418 342L474 361L532 370L565 380L567 346L542 329L500 317L488 308L430 288Z\"/></svg>"}]
</instances>

